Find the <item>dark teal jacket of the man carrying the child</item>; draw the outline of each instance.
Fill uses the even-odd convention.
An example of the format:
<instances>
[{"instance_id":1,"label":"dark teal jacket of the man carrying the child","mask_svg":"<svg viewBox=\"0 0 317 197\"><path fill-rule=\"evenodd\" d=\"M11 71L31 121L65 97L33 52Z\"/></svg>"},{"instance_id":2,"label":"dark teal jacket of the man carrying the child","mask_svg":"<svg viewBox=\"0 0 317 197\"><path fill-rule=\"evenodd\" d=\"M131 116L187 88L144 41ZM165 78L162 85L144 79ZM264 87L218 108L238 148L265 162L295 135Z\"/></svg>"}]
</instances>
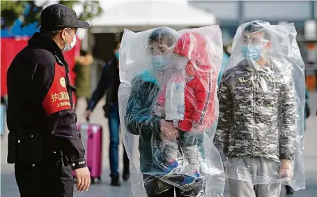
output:
<instances>
[{"instance_id":1,"label":"dark teal jacket of the man carrying the child","mask_svg":"<svg viewBox=\"0 0 317 197\"><path fill-rule=\"evenodd\" d=\"M160 140L160 118L153 114L152 105L159 90L155 82L138 76L133 82L127 101L124 122L129 133L140 136L139 152L142 173L155 168L151 139Z\"/></svg>"}]
</instances>

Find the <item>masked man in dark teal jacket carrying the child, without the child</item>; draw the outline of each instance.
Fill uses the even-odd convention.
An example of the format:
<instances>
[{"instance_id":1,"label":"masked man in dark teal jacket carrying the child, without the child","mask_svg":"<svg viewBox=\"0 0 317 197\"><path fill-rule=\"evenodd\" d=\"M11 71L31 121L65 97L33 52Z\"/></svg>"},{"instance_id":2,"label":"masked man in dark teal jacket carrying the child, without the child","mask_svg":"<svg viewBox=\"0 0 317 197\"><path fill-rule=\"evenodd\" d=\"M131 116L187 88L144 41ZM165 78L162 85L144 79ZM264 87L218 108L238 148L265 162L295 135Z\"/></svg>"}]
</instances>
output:
<instances>
[{"instance_id":1,"label":"masked man in dark teal jacket carrying the child, without the child","mask_svg":"<svg viewBox=\"0 0 317 197\"><path fill-rule=\"evenodd\" d=\"M176 140L178 137L178 131L173 123L153 116L152 107L156 95L160 92L159 83L162 84L163 76L170 72L167 65L171 61L177 38L178 33L169 28L157 28L150 34L147 51L153 53L149 56L153 71L145 71L137 75L132 82L132 90L127 102L125 126L127 131L140 136L140 170L144 173L144 187L148 196L173 196L174 194L171 184L145 173L153 170L152 136L155 139L163 136L168 140ZM160 57L156 53L159 53Z\"/></svg>"}]
</instances>

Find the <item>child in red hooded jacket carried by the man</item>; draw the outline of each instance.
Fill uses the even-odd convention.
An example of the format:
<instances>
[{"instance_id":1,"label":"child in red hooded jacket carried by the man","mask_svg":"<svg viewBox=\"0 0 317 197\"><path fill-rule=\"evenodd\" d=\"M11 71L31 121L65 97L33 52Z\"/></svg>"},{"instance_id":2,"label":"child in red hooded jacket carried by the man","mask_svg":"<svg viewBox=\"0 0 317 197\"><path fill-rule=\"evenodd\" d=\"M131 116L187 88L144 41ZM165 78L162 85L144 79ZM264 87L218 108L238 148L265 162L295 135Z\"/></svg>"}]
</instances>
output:
<instances>
[{"instance_id":1,"label":"child in red hooded jacket carried by the man","mask_svg":"<svg viewBox=\"0 0 317 197\"><path fill-rule=\"evenodd\" d=\"M168 175L178 173L183 166L183 173L194 178L185 179L182 186L201 179L197 144L202 142L203 132L217 120L217 72L212 69L206 41L200 34L187 32L180 36L173 54L172 64L176 71L163 85L155 113L172 121L179 130L178 140L162 140L160 147L167 160ZM183 150L183 165L177 158L179 143Z\"/></svg>"}]
</instances>

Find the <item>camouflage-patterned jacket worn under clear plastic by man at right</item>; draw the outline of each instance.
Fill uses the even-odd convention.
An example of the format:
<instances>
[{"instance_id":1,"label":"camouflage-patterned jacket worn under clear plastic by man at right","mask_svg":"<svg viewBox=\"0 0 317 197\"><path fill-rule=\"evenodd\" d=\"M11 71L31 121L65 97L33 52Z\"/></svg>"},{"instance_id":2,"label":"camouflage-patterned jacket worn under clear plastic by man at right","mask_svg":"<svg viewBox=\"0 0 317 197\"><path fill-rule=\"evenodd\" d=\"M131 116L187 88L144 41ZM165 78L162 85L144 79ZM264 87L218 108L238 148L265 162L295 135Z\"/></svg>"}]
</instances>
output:
<instances>
[{"instance_id":1,"label":"camouflage-patterned jacket worn under clear plastic by man at right","mask_svg":"<svg viewBox=\"0 0 317 197\"><path fill-rule=\"evenodd\" d=\"M214 143L227 157L293 160L295 92L291 80L270 62L260 67L242 60L224 73Z\"/></svg>"}]
</instances>

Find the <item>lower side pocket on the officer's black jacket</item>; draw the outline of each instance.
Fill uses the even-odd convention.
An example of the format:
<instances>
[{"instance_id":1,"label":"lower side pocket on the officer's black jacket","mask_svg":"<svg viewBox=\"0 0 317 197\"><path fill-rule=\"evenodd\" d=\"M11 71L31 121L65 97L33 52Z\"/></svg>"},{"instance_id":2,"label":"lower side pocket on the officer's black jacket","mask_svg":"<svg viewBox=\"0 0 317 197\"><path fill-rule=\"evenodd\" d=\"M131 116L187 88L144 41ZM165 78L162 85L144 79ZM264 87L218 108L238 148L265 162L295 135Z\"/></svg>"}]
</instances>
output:
<instances>
[{"instance_id":1,"label":"lower side pocket on the officer's black jacket","mask_svg":"<svg viewBox=\"0 0 317 197\"><path fill-rule=\"evenodd\" d=\"M16 140L17 161L38 163L44 160L44 141L41 131L20 131Z\"/></svg>"}]
</instances>

